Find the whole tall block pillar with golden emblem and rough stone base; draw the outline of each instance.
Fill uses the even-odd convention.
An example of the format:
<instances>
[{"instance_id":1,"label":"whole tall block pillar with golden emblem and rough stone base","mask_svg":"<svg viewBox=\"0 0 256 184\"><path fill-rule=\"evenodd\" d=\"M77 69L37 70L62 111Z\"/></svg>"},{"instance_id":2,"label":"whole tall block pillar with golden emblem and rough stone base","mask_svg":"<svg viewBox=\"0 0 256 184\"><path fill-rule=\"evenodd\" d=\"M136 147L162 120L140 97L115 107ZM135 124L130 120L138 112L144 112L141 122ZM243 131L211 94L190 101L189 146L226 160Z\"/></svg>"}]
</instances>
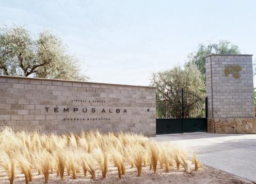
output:
<instances>
[{"instance_id":1,"label":"whole tall block pillar with golden emblem and rough stone base","mask_svg":"<svg viewBox=\"0 0 256 184\"><path fill-rule=\"evenodd\" d=\"M207 131L256 133L252 55L212 54L205 67Z\"/></svg>"}]
</instances>

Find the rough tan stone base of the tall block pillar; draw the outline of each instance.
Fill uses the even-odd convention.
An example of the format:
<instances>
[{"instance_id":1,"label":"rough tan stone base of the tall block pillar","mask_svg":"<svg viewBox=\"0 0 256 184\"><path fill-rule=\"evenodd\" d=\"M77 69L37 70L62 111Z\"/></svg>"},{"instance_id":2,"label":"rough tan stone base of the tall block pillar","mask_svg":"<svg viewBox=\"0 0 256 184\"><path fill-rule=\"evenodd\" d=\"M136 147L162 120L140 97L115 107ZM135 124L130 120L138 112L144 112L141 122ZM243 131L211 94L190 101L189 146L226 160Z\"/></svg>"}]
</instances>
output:
<instances>
[{"instance_id":1,"label":"rough tan stone base of the tall block pillar","mask_svg":"<svg viewBox=\"0 0 256 184\"><path fill-rule=\"evenodd\" d=\"M207 132L218 134L256 134L256 118L208 118Z\"/></svg>"}]
</instances>

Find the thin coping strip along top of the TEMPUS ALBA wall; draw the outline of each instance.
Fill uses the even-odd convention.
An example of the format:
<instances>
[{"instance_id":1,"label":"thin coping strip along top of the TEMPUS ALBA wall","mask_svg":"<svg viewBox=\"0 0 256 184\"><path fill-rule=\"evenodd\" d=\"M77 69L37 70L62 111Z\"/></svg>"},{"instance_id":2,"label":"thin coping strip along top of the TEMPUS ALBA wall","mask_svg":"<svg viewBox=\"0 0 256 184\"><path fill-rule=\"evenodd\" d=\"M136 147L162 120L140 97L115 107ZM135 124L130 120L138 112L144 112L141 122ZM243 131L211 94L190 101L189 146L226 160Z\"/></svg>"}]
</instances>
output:
<instances>
[{"instance_id":1,"label":"thin coping strip along top of the TEMPUS ALBA wall","mask_svg":"<svg viewBox=\"0 0 256 184\"><path fill-rule=\"evenodd\" d=\"M146 88L154 88L154 89L156 88L156 87L153 87L153 86L127 85L127 84L109 84L109 83L98 83L98 82L72 81L72 80L63 80L63 79L45 79L45 78L20 77L20 76L5 76L5 75L0 75L0 78L44 80L44 81L60 81L60 82L75 82L75 83L99 84L99 85L113 85L113 86L146 87Z\"/></svg>"}]
</instances>

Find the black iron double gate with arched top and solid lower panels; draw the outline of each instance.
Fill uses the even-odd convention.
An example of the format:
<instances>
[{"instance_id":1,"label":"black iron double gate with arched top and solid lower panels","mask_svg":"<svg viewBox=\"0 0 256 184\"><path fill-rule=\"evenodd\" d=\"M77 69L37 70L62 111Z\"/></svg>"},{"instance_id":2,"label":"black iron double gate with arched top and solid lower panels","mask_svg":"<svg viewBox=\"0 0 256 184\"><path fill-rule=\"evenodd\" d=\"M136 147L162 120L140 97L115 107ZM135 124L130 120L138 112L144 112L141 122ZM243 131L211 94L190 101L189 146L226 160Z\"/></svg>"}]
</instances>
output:
<instances>
[{"instance_id":1,"label":"black iron double gate with arched top and solid lower panels","mask_svg":"<svg viewBox=\"0 0 256 184\"><path fill-rule=\"evenodd\" d=\"M156 134L207 131L207 97L172 90L156 97Z\"/></svg>"}]
</instances>

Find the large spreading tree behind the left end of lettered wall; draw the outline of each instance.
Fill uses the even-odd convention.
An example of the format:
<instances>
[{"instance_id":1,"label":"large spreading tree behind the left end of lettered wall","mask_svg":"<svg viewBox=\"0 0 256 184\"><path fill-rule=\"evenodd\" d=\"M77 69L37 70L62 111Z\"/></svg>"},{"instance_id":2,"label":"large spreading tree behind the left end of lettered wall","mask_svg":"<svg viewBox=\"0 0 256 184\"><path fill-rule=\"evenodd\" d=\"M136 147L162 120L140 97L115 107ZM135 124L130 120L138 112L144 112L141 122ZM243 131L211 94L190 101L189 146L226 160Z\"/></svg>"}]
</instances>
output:
<instances>
[{"instance_id":1,"label":"large spreading tree behind the left end of lettered wall","mask_svg":"<svg viewBox=\"0 0 256 184\"><path fill-rule=\"evenodd\" d=\"M0 75L86 80L78 64L49 31L33 38L24 26L0 28Z\"/></svg>"}]
</instances>

